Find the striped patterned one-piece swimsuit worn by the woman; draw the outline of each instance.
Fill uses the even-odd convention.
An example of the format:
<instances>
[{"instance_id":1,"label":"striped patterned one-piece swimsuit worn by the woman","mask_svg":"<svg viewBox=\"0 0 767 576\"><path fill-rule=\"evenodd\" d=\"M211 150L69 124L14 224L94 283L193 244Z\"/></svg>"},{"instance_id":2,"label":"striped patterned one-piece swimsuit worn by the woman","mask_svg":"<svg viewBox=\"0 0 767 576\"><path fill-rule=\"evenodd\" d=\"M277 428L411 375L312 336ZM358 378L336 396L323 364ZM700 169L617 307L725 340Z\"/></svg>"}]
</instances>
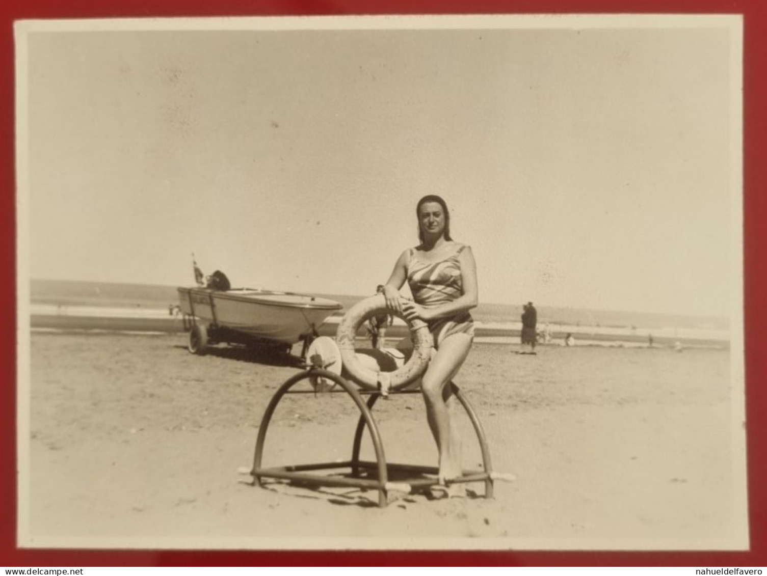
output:
<instances>
[{"instance_id":1,"label":"striped patterned one-piece swimsuit worn by the woman","mask_svg":"<svg viewBox=\"0 0 767 576\"><path fill-rule=\"evenodd\" d=\"M459 254L466 249L459 244L458 249L439 262L422 262L416 249L410 249L410 261L407 263L407 284L417 304L426 308L452 302L463 295L463 281ZM434 337L434 347L438 348L451 334L469 334L474 337L472 315L459 312L449 318L437 318L429 322L429 331Z\"/></svg>"}]
</instances>

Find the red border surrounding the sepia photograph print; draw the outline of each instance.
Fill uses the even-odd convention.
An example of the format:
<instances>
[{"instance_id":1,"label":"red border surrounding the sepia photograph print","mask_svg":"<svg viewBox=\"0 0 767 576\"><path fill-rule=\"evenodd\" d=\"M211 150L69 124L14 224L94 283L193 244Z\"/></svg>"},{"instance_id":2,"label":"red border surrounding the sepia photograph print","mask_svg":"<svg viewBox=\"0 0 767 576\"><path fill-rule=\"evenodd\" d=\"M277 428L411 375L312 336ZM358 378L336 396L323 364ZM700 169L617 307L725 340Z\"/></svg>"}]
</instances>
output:
<instances>
[{"instance_id":1,"label":"red border surrounding the sepia photograph print","mask_svg":"<svg viewBox=\"0 0 767 576\"><path fill-rule=\"evenodd\" d=\"M752 550L746 552L536 551L85 551L16 548L15 281L3 285L0 329L0 565L6 566L256 566L256 565L767 565L767 362L759 348L767 326L767 2L763 0L12 0L0 7L0 255L15 270L15 150L13 21L26 18L146 18L173 16L665 13L744 15L746 414ZM8 272L10 275L10 272Z\"/></svg>"}]
</instances>

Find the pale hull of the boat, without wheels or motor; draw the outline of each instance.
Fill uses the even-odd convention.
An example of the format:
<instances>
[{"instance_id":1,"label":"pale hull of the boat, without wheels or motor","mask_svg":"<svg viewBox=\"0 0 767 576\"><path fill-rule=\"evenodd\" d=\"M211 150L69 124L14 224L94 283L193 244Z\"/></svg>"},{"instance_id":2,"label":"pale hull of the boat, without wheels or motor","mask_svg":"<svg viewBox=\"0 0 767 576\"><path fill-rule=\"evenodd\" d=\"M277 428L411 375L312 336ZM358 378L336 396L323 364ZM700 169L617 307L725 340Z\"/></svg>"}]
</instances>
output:
<instances>
[{"instance_id":1,"label":"pale hull of the boat, without wheels or motor","mask_svg":"<svg viewBox=\"0 0 767 576\"><path fill-rule=\"evenodd\" d=\"M214 328L225 328L262 340L295 344L311 334L340 303L327 298L255 290L218 291L179 288L184 314Z\"/></svg>"}]
</instances>

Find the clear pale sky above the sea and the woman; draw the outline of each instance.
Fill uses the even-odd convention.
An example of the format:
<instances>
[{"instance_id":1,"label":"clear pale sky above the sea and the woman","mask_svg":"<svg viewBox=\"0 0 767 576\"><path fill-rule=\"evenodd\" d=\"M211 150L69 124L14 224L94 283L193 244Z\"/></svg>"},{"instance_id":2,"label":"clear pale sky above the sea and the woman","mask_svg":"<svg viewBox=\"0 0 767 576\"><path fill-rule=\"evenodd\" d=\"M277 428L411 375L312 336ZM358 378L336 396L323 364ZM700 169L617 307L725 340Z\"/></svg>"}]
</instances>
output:
<instances>
[{"instance_id":1,"label":"clear pale sky above the sea and the woman","mask_svg":"<svg viewBox=\"0 0 767 576\"><path fill-rule=\"evenodd\" d=\"M480 301L729 314L736 28L549 21L31 31L29 275L370 294L437 193Z\"/></svg>"}]
</instances>

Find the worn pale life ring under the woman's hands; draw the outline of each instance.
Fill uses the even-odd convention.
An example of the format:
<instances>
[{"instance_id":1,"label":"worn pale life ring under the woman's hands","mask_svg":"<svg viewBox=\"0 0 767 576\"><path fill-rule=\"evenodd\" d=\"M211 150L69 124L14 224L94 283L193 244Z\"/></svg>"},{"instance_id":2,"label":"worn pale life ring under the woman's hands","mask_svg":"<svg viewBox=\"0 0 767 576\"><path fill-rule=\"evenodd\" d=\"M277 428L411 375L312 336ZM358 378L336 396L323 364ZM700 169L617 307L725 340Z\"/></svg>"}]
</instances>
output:
<instances>
[{"instance_id":1,"label":"worn pale life ring under the woman's hands","mask_svg":"<svg viewBox=\"0 0 767 576\"><path fill-rule=\"evenodd\" d=\"M357 331L368 318L380 316L380 314L393 314L405 320L410 327L410 336L413 339L413 355L410 356L410 360L393 372L375 372L364 367L354 352L354 338L357 336ZM341 318L341 323L338 324L336 344L341 351L344 371L354 383L368 390L377 390L382 384L381 377L384 377L387 380L385 388L400 390L418 380L426 372L431 359L433 338L426 322L407 321L401 314L387 307L384 295L376 295L357 302L344 314L344 318Z\"/></svg>"}]
</instances>

